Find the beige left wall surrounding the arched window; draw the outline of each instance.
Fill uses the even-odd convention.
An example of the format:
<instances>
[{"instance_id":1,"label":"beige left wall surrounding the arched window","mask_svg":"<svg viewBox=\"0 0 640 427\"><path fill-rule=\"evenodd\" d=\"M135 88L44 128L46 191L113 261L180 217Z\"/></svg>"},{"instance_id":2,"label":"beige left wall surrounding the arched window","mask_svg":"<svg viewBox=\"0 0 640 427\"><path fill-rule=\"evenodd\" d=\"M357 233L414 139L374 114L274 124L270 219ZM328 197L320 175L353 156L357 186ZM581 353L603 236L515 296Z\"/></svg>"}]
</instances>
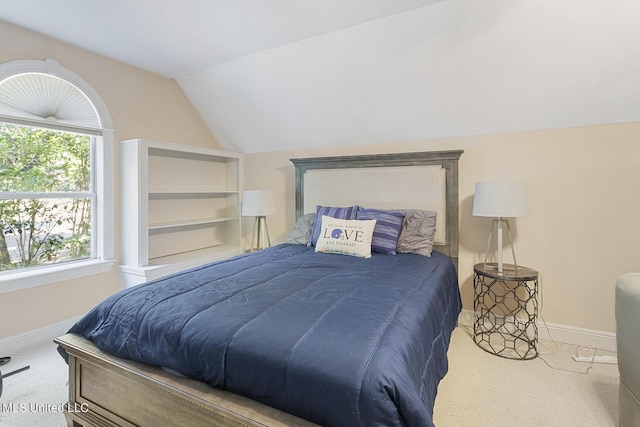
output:
<instances>
[{"instance_id":1,"label":"beige left wall surrounding the arched window","mask_svg":"<svg viewBox=\"0 0 640 427\"><path fill-rule=\"evenodd\" d=\"M0 63L55 59L89 82L115 128L116 256L119 254L119 141L149 138L219 148L175 82L0 21ZM118 289L118 268L84 279L0 294L0 339L80 316Z\"/></svg>"}]
</instances>

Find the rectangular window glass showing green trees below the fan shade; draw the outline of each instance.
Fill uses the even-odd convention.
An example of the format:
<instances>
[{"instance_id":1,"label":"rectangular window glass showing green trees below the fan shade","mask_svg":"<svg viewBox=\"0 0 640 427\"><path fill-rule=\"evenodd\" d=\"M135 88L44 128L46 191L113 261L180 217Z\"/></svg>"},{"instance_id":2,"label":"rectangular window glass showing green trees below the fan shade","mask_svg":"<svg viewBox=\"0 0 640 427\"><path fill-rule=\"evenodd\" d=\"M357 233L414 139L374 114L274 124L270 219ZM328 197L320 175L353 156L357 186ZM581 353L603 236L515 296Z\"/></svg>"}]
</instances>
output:
<instances>
[{"instance_id":1,"label":"rectangular window glass showing green trees below the fan shade","mask_svg":"<svg viewBox=\"0 0 640 427\"><path fill-rule=\"evenodd\" d=\"M94 142L0 122L0 272L93 257Z\"/></svg>"}]
</instances>

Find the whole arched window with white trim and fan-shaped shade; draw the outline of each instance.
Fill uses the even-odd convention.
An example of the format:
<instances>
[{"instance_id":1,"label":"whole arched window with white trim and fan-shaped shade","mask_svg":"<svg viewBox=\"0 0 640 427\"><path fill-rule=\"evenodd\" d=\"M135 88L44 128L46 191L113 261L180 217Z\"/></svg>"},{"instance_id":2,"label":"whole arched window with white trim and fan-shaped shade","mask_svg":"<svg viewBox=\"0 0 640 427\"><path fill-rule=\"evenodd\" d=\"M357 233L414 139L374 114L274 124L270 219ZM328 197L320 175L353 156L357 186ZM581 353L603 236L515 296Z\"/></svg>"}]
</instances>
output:
<instances>
[{"instance_id":1,"label":"whole arched window with white trim and fan-shaped shade","mask_svg":"<svg viewBox=\"0 0 640 427\"><path fill-rule=\"evenodd\" d=\"M113 130L56 61L0 65L0 293L108 271Z\"/></svg>"}]
</instances>

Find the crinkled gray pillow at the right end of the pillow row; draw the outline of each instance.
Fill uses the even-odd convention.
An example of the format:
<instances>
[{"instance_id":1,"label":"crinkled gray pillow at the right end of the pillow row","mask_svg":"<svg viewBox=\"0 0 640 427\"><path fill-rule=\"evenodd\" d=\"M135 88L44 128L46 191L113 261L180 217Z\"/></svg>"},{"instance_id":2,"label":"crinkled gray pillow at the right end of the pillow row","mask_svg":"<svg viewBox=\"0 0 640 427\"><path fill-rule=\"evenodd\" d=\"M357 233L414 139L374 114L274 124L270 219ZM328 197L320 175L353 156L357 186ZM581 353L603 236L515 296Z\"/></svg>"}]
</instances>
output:
<instances>
[{"instance_id":1,"label":"crinkled gray pillow at the right end of the pillow row","mask_svg":"<svg viewBox=\"0 0 640 427\"><path fill-rule=\"evenodd\" d=\"M405 212L398 237L398 253L431 256L436 237L436 212L410 209Z\"/></svg>"}]
</instances>

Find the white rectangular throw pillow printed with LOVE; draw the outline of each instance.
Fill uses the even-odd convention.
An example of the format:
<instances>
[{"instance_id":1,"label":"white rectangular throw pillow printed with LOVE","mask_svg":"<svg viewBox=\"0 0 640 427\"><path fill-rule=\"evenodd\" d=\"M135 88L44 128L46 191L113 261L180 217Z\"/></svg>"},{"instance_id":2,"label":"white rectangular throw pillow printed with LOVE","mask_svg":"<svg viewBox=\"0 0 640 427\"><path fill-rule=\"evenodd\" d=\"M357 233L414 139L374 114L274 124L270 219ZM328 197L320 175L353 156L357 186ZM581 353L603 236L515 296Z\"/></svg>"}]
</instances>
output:
<instances>
[{"instance_id":1,"label":"white rectangular throw pillow printed with LOVE","mask_svg":"<svg viewBox=\"0 0 640 427\"><path fill-rule=\"evenodd\" d=\"M376 220L348 220L322 216L316 252L371 258L371 239Z\"/></svg>"}]
</instances>

